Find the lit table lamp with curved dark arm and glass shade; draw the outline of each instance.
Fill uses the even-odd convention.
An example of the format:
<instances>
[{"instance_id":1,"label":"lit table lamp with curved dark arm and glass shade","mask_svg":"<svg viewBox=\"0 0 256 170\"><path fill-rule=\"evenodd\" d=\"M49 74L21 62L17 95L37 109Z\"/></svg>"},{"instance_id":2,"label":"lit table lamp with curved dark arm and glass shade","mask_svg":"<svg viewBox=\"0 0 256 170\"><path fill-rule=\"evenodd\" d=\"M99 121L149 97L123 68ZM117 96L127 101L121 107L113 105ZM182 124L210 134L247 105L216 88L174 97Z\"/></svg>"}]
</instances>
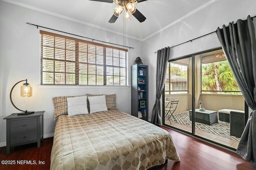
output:
<instances>
[{"instance_id":1,"label":"lit table lamp with curved dark arm and glass shade","mask_svg":"<svg viewBox=\"0 0 256 170\"><path fill-rule=\"evenodd\" d=\"M26 80L21 80L21 81L17 82L16 84L14 84L14 86L12 87L12 90L13 90L13 88L14 88L18 83L23 82L23 81L26 81L26 83L24 83L23 86L20 87L20 96L26 97L26 98L32 96L32 87L29 85L27 79L26 79ZM12 90L11 90L11 92L10 92L10 100L11 100L11 102L12 102ZM12 105L13 105L16 109L18 109L18 107L16 107L16 106L13 104L13 102L12 102ZM21 109L18 109L18 110L23 111L22 113L17 113L18 115L28 115L28 114L34 113L34 111L27 111L27 110L24 111L24 110L21 110Z\"/></svg>"}]
</instances>

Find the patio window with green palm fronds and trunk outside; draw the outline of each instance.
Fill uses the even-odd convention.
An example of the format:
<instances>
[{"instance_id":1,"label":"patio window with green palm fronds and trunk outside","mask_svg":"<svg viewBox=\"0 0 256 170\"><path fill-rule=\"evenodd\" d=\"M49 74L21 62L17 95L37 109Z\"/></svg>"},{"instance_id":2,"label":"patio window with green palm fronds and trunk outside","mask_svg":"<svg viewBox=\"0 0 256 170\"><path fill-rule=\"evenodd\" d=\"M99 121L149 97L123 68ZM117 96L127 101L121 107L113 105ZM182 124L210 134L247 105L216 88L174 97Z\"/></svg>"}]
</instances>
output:
<instances>
[{"instance_id":1,"label":"patio window with green palm fronds and trunk outside","mask_svg":"<svg viewBox=\"0 0 256 170\"><path fill-rule=\"evenodd\" d=\"M222 50L201 57L202 94L242 95Z\"/></svg>"}]
</instances>

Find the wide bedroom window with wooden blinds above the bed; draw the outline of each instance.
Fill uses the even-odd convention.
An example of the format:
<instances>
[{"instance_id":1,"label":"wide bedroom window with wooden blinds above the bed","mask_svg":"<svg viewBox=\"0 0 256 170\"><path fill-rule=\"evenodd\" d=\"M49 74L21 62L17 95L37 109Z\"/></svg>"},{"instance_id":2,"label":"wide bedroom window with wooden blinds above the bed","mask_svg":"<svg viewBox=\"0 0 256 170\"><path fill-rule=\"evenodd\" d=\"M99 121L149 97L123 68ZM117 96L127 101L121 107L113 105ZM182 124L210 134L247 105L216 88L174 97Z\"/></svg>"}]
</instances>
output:
<instances>
[{"instance_id":1,"label":"wide bedroom window with wooden blinds above the bed","mask_svg":"<svg viewBox=\"0 0 256 170\"><path fill-rule=\"evenodd\" d=\"M127 85L128 50L46 31L41 35L41 85Z\"/></svg>"}]
</instances>

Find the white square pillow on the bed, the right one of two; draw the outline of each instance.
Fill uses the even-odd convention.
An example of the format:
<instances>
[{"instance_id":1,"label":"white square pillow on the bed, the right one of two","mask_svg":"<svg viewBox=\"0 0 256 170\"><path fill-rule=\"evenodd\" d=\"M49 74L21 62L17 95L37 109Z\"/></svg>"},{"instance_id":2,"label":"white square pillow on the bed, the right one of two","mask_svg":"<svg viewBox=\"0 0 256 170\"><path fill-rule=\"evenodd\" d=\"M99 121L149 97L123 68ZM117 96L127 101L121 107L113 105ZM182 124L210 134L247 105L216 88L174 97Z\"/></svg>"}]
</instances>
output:
<instances>
[{"instance_id":1,"label":"white square pillow on the bed, the right one of two","mask_svg":"<svg viewBox=\"0 0 256 170\"><path fill-rule=\"evenodd\" d=\"M100 111L108 111L106 104L106 96L91 96L88 97L90 103L90 113L96 113Z\"/></svg>"}]
</instances>

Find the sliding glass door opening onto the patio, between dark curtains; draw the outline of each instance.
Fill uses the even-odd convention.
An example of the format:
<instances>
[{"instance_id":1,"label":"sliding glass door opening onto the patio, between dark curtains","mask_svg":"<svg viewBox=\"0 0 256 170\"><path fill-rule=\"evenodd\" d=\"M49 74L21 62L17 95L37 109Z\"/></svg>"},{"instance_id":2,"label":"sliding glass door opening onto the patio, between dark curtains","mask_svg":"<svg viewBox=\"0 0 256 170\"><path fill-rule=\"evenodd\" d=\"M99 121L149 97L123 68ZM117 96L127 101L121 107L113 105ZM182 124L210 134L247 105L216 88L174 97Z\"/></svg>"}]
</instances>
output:
<instances>
[{"instance_id":1,"label":"sliding glass door opening onto the patio, between dark curtains","mask_svg":"<svg viewBox=\"0 0 256 170\"><path fill-rule=\"evenodd\" d=\"M222 49L169 61L163 96L164 125L236 150L248 106Z\"/></svg>"}]
</instances>

